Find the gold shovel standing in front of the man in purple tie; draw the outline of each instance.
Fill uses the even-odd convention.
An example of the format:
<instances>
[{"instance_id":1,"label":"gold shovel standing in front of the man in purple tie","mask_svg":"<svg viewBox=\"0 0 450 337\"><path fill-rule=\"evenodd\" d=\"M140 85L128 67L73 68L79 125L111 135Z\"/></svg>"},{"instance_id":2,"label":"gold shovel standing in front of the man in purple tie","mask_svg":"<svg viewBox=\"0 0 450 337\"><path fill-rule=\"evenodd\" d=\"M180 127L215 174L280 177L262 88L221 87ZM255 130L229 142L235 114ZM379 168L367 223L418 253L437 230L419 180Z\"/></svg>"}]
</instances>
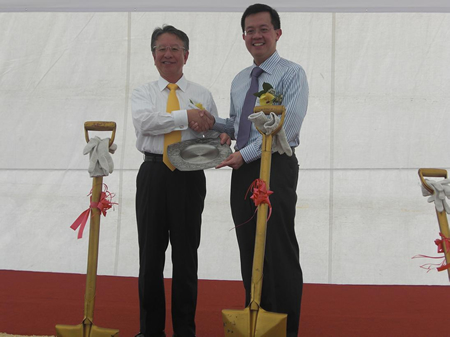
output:
<instances>
[{"instance_id":1,"label":"gold shovel standing in front of the man in purple tie","mask_svg":"<svg viewBox=\"0 0 450 337\"><path fill-rule=\"evenodd\" d=\"M272 136L276 134L284 122L285 107L282 105L257 106L254 112L263 111L281 114L280 124L271 134L262 135L260 179L266 183L269 190L270 165L272 160ZM268 312L261 308L261 292L266 246L268 205L258 206L256 220L255 251L253 256L252 285L250 304L244 310L222 310L225 336L229 337L284 337L286 336L287 315Z\"/></svg>"}]
</instances>

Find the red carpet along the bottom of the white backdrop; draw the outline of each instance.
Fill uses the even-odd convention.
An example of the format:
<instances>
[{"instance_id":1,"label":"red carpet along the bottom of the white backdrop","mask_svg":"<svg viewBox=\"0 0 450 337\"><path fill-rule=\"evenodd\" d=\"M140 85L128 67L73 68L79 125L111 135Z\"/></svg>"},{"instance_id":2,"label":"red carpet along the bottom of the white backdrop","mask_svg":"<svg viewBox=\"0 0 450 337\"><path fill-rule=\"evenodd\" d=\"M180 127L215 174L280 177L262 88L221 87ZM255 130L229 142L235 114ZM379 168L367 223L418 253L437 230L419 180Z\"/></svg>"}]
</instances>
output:
<instances>
[{"instance_id":1,"label":"red carpet along the bottom of the white backdrop","mask_svg":"<svg viewBox=\"0 0 450 337\"><path fill-rule=\"evenodd\" d=\"M56 324L81 323L84 287L85 275L0 270L0 332L54 335ZM299 336L450 336L446 286L305 284L303 294ZM243 296L241 282L201 280L197 335L223 336L221 310L243 309ZM122 337L138 332L136 278L97 278L94 323Z\"/></svg>"}]
</instances>

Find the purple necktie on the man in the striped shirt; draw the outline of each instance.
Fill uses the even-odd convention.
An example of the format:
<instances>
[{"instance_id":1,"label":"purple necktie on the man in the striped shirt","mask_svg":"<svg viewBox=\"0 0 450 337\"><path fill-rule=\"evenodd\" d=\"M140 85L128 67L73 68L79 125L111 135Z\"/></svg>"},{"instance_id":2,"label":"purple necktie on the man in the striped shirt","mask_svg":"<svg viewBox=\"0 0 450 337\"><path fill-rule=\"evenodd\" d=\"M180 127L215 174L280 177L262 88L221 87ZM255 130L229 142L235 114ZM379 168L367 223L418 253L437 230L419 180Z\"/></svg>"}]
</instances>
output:
<instances>
[{"instance_id":1,"label":"purple necktie on the man in the striped shirt","mask_svg":"<svg viewBox=\"0 0 450 337\"><path fill-rule=\"evenodd\" d=\"M250 84L250 89L248 89L247 95L245 96L241 118L239 120L239 132L237 136L237 147L239 150L245 147L248 142L250 129L252 127L252 122L248 120L248 116L253 113L253 108L255 107L256 102L256 96L253 94L258 92L258 77L263 72L264 71L259 67L255 67L252 70L252 83Z\"/></svg>"}]
</instances>

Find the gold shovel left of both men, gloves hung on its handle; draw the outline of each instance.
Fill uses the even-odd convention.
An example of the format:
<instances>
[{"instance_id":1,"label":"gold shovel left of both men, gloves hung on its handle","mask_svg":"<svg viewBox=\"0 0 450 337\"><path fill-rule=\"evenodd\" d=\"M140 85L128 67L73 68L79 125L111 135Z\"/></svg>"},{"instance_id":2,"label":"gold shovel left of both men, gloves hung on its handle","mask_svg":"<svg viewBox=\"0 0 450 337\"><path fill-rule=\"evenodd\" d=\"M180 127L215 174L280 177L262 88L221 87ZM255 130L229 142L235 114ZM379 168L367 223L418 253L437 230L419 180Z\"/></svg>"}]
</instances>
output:
<instances>
[{"instance_id":1,"label":"gold shovel left of both men, gloves hung on its handle","mask_svg":"<svg viewBox=\"0 0 450 337\"><path fill-rule=\"evenodd\" d=\"M109 146L114 143L116 134L115 122L86 122L84 123L86 141L89 143L88 130L112 131ZM93 177L92 202L99 202L103 187L103 176ZM119 336L119 330L100 328L93 323L95 304L95 285L97 280L98 242L100 233L100 210L91 209L89 230L89 249L86 275L86 293L84 296L84 319L78 325L56 325L57 337L111 337Z\"/></svg>"}]
</instances>

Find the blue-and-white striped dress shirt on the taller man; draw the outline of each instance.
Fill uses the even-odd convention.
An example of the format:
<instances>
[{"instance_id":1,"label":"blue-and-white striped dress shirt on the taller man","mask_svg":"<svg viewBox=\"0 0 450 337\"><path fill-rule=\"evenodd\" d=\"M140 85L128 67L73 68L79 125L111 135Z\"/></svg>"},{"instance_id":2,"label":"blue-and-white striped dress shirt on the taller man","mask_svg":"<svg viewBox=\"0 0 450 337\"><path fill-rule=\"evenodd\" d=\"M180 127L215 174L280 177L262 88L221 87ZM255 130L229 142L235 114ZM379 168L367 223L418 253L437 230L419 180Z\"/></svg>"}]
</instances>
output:
<instances>
[{"instance_id":1,"label":"blue-and-white striped dress shirt on the taller man","mask_svg":"<svg viewBox=\"0 0 450 337\"><path fill-rule=\"evenodd\" d=\"M244 105L245 95L250 88L251 72L256 65L245 68L236 75L231 83L230 117L216 117L214 129L228 133L235 139L239 132L239 119ZM259 66L264 72L258 78L258 91L267 82L272 85L277 94L283 95L282 104L286 107L286 116L283 128L291 147L300 143L300 128L308 107L308 82L303 68L297 63L286 60L277 51ZM255 105L259 105L259 99ZM252 124L250 138L245 147L239 150L246 163L261 157L262 136Z\"/></svg>"}]
</instances>

